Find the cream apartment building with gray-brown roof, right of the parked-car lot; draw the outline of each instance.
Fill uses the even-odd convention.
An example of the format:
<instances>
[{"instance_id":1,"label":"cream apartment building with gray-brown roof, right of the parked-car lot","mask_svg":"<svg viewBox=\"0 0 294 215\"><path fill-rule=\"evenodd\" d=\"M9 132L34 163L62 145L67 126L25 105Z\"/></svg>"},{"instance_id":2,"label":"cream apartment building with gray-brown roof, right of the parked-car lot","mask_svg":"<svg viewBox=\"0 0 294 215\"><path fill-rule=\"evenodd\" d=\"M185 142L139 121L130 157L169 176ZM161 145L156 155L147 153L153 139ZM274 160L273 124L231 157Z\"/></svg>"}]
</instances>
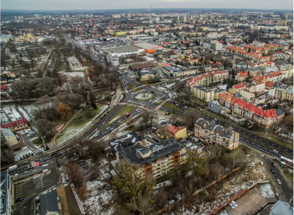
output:
<instances>
[{"instance_id":1,"label":"cream apartment building with gray-brown roof, right of the parked-car lot","mask_svg":"<svg viewBox=\"0 0 294 215\"><path fill-rule=\"evenodd\" d=\"M198 118L195 123L194 135L206 143L222 145L231 150L239 146L239 133L233 131L231 127L225 128L217 125L213 120L208 122Z\"/></svg>"}]
</instances>

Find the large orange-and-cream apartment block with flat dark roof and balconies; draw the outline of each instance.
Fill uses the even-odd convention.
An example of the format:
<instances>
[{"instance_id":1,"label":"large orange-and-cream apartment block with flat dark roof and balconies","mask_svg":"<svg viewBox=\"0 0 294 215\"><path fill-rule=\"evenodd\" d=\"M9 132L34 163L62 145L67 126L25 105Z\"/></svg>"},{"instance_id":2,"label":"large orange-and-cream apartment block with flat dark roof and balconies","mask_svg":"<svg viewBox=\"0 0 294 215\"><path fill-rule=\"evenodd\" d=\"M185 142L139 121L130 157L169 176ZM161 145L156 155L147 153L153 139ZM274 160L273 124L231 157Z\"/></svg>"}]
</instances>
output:
<instances>
[{"instance_id":1,"label":"large orange-and-cream apartment block with flat dark roof and balconies","mask_svg":"<svg viewBox=\"0 0 294 215\"><path fill-rule=\"evenodd\" d=\"M187 162L187 150L173 138L143 147L140 144L118 150L118 160L138 167L142 180L156 180Z\"/></svg>"}]
</instances>

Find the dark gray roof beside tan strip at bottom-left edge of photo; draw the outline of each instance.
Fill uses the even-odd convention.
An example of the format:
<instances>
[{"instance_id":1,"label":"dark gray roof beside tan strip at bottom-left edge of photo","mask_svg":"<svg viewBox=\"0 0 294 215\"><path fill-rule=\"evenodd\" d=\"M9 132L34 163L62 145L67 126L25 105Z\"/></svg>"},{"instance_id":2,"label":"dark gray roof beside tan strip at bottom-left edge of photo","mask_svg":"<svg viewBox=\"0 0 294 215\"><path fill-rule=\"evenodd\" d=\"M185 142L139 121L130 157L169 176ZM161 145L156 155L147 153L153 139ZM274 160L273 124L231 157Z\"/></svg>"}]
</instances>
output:
<instances>
[{"instance_id":1,"label":"dark gray roof beside tan strip at bottom-left edge of photo","mask_svg":"<svg viewBox=\"0 0 294 215\"><path fill-rule=\"evenodd\" d=\"M40 196L40 214L45 215L47 212L58 212L56 190L45 193Z\"/></svg>"}]
</instances>

